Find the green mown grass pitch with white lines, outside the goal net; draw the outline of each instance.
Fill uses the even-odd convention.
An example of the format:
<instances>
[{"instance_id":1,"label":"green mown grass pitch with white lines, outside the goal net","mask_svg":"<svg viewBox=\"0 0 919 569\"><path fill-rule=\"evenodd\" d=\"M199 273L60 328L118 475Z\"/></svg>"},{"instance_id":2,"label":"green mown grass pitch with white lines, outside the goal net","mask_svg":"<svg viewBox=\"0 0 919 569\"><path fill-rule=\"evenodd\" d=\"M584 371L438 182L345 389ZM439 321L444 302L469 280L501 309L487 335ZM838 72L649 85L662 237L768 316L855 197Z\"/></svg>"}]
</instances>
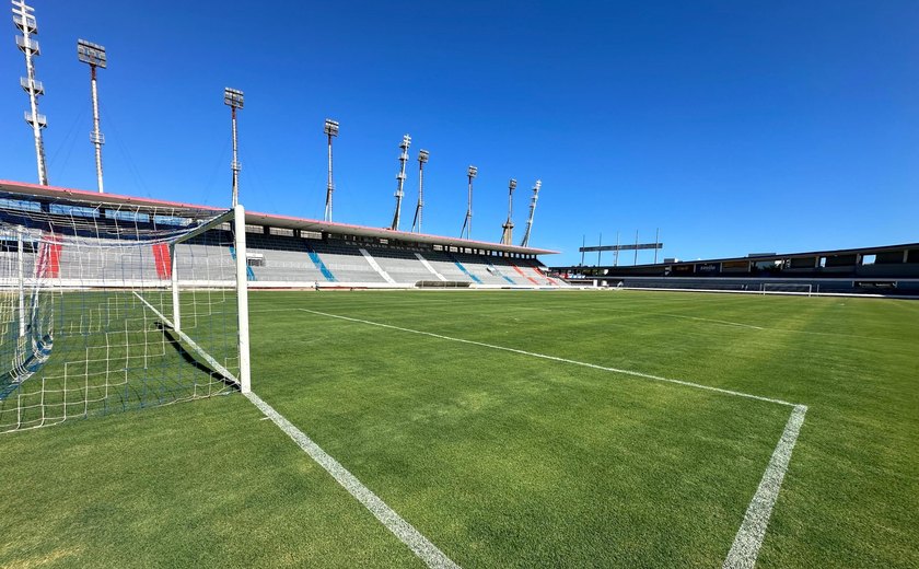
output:
<instances>
[{"instance_id":1,"label":"green mown grass pitch with white lines, outside the goal net","mask_svg":"<svg viewBox=\"0 0 919 569\"><path fill-rule=\"evenodd\" d=\"M0 566L919 566L915 301L249 301L338 480L239 394L0 436Z\"/></svg>"}]
</instances>

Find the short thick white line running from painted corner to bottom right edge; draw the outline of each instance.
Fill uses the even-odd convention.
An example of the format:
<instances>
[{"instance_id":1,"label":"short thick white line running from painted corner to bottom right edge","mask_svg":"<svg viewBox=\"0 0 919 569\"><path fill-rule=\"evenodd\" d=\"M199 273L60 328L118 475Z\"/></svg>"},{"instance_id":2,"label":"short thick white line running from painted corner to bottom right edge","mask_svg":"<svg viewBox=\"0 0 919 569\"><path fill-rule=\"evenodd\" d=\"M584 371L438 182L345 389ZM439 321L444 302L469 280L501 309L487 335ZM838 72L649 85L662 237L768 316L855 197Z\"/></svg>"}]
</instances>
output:
<instances>
[{"instance_id":1,"label":"short thick white line running from painted corner to bottom right edge","mask_svg":"<svg viewBox=\"0 0 919 569\"><path fill-rule=\"evenodd\" d=\"M795 405L794 410L791 411L782 438L779 439L779 444L772 452L769 466L763 474L763 479L747 507L741 529L734 537L734 544L724 559L724 569L747 569L756 565L756 557L763 545L763 538L766 536L769 516L779 497L779 489L782 486L788 463L791 461L791 451L794 450L798 433L801 432L801 426L804 423L805 413L807 413L807 407L804 405Z\"/></svg>"}]
</instances>

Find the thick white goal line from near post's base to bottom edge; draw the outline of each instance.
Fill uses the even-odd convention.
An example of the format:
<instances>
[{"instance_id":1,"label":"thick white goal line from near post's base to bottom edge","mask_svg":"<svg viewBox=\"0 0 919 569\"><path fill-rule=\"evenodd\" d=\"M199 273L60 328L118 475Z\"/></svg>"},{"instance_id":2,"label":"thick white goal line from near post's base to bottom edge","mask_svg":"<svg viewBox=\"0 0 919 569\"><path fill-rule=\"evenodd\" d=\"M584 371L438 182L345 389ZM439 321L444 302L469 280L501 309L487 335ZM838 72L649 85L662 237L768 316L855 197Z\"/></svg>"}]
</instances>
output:
<instances>
[{"instance_id":1,"label":"thick white goal line from near post's base to bottom edge","mask_svg":"<svg viewBox=\"0 0 919 569\"><path fill-rule=\"evenodd\" d=\"M306 437L303 431L294 427L293 423L276 411L270 405L261 400L261 398L255 393L246 393L244 395L256 407L258 407L267 418L270 418L278 428L284 431L288 437L293 439L293 441L300 445L300 448L303 449L303 451L309 454L316 464L325 468L325 471L335 478L335 481L348 490L348 493L353 496L364 506L364 508L370 510L370 513L376 516L376 519L380 520L387 530L393 532L396 537L406 544L419 559L424 561L428 567L458 569L458 565L453 562L449 557L446 557L446 555L443 554L443 551L438 549L434 544L421 535L418 530L406 522L392 508L386 506L386 502L381 500L379 496L373 493L373 491L358 480L358 478L348 472L347 468L341 466L338 461L329 456L328 453L322 450L318 444Z\"/></svg>"}]
</instances>

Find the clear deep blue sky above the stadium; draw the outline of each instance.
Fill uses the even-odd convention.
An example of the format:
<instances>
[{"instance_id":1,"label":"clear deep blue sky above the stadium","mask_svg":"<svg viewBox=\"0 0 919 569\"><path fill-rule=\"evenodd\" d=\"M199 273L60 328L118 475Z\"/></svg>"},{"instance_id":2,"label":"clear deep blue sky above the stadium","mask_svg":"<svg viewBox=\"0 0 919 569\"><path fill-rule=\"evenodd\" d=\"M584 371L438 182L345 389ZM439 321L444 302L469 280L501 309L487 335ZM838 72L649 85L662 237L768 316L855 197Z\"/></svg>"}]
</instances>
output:
<instances>
[{"instance_id":1,"label":"clear deep blue sky above the stadium","mask_svg":"<svg viewBox=\"0 0 919 569\"><path fill-rule=\"evenodd\" d=\"M515 177L519 241L542 178L549 264L617 230L680 258L919 241L916 1L32 3L53 185L95 188L83 37L113 193L229 204L229 85L251 210L322 218L333 117L336 221L389 223L408 132L404 229L423 148L426 232L458 235L475 164L473 237L499 240ZM36 182L5 13L0 178Z\"/></svg>"}]
</instances>

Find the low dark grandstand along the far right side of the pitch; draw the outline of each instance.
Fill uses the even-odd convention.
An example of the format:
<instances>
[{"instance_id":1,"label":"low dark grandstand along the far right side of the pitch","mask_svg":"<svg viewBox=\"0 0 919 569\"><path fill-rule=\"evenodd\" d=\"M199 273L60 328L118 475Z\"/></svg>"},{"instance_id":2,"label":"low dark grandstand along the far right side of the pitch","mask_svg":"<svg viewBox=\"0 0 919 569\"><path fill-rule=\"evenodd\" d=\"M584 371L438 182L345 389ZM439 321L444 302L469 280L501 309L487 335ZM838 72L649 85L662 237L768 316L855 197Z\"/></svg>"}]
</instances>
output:
<instances>
[{"instance_id":1,"label":"low dark grandstand along the far right side of the pitch","mask_svg":"<svg viewBox=\"0 0 919 569\"><path fill-rule=\"evenodd\" d=\"M919 295L919 243L805 253L753 253L647 265L552 267L572 283L632 289Z\"/></svg>"}]
</instances>

